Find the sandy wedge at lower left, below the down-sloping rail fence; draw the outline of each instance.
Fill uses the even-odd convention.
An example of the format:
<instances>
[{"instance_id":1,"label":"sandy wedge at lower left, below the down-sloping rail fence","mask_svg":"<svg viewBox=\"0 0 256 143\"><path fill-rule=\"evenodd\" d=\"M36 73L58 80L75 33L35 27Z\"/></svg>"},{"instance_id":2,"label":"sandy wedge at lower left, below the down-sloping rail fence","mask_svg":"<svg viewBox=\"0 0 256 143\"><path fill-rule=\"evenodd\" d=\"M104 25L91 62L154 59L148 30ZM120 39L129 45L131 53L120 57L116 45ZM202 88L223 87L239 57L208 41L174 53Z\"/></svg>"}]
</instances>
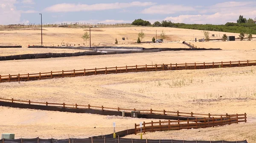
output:
<instances>
[{"instance_id":1,"label":"sandy wedge at lower left, below the down-sloping rail fence","mask_svg":"<svg viewBox=\"0 0 256 143\"><path fill-rule=\"evenodd\" d=\"M0 132L15 133L15 138L51 138L66 139L87 138L134 128L134 123L142 119L128 117L102 116L67 112L49 112L32 109L15 109L0 107ZM104 122L102 122L104 121ZM151 121L143 119L143 121ZM94 128L96 127L96 128Z\"/></svg>"}]
</instances>

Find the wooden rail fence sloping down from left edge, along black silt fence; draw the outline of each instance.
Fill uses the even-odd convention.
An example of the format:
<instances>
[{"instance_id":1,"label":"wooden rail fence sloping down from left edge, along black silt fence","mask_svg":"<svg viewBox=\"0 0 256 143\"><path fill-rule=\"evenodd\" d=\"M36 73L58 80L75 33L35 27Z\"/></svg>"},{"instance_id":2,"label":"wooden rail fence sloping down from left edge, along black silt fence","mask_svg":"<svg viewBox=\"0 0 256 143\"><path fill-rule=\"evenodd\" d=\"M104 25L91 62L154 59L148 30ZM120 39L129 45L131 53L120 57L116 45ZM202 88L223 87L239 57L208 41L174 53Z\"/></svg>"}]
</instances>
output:
<instances>
[{"instance_id":1,"label":"wooden rail fence sloping down from left edge, along black silt fence","mask_svg":"<svg viewBox=\"0 0 256 143\"><path fill-rule=\"evenodd\" d=\"M19 104L31 104L31 105L44 105L44 106L51 106L51 107L60 107L60 108L70 108L70 109L96 109L96 110L102 110L102 111L125 111L125 112L131 112L131 111L140 111L140 114L155 114L155 115L168 115L168 116L177 116L177 117L188 117L188 118L216 118L216 117L229 117L233 115L224 114L224 115L215 115L215 114L199 114L199 113L186 113L186 112L172 112L172 111L166 111L166 110L153 110L153 109L125 109L125 108L110 108L110 107L103 107L103 106L91 106L88 105L79 105L79 104L58 104L58 103L50 103L50 102L34 102L34 101L24 101L24 100L17 100L17 99L5 99L0 98L0 101L4 102L10 102L10 103L19 103Z\"/></svg>"}]
</instances>

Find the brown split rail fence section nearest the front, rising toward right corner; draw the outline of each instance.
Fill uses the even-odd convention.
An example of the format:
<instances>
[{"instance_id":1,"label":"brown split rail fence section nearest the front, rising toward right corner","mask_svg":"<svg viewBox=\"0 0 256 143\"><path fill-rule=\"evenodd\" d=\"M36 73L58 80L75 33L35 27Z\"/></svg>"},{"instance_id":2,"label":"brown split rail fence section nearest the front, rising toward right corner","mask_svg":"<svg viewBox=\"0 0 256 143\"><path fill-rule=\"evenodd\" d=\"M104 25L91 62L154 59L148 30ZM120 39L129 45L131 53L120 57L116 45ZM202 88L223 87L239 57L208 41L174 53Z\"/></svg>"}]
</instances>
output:
<instances>
[{"instance_id":1,"label":"brown split rail fence section nearest the front, rising toward right corner","mask_svg":"<svg viewBox=\"0 0 256 143\"><path fill-rule=\"evenodd\" d=\"M233 123L239 122L247 122L246 113L244 114L236 114L229 115L220 118L204 118L204 119L195 119L195 120L187 120L187 121L159 121L150 123L142 123L142 127L140 124L135 123L135 135L137 133L145 133L145 132L155 132L155 131L166 131L166 130L180 130L180 129L198 129L198 128L207 128L214 126L224 126L230 125Z\"/></svg>"}]
</instances>

